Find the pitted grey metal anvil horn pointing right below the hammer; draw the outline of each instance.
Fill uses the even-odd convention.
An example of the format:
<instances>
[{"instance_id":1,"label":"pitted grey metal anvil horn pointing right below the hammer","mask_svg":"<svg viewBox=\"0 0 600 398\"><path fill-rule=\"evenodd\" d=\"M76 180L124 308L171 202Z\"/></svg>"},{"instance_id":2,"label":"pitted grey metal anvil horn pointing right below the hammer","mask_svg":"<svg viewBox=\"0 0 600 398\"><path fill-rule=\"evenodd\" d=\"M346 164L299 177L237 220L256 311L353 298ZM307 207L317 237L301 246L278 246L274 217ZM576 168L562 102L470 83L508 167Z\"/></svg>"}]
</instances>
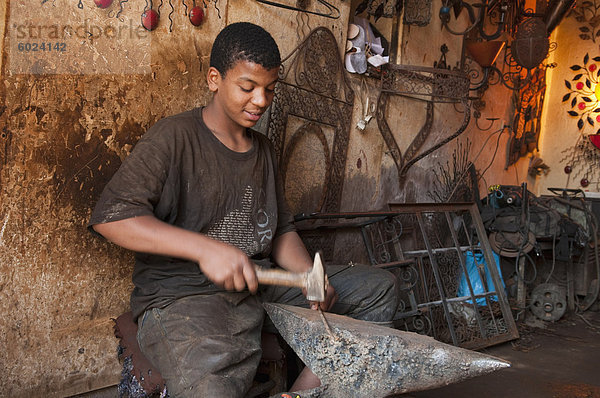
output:
<instances>
[{"instance_id":1,"label":"pitted grey metal anvil horn pointing right below the hammer","mask_svg":"<svg viewBox=\"0 0 600 398\"><path fill-rule=\"evenodd\" d=\"M328 330L318 311L271 303L264 307L282 337L321 380L321 397L386 397L510 366L428 336L346 316L325 314Z\"/></svg>"}]
</instances>

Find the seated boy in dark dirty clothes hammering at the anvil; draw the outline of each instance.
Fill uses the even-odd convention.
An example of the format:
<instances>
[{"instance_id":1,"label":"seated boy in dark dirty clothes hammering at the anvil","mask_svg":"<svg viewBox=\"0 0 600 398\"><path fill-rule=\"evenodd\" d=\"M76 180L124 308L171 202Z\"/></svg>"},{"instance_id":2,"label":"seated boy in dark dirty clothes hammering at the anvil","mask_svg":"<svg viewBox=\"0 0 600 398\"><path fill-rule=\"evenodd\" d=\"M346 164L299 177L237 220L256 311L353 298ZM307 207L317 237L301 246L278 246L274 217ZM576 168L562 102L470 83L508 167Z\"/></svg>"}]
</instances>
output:
<instances>
[{"instance_id":1,"label":"seated boy in dark dirty clothes hammering at the anvil","mask_svg":"<svg viewBox=\"0 0 600 398\"><path fill-rule=\"evenodd\" d=\"M273 148L250 130L273 100L280 64L264 29L223 29L207 74L210 103L150 128L89 223L136 252L131 307L138 342L171 397L244 396L261 357L261 302L309 306L300 289L259 289L254 272L254 264L292 272L312 267L285 204ZM332 287L323 309L392 319L391 274L360 266L327 273ZM293 388L318 384L306 369Z\"/></svg>"}]
</instances>

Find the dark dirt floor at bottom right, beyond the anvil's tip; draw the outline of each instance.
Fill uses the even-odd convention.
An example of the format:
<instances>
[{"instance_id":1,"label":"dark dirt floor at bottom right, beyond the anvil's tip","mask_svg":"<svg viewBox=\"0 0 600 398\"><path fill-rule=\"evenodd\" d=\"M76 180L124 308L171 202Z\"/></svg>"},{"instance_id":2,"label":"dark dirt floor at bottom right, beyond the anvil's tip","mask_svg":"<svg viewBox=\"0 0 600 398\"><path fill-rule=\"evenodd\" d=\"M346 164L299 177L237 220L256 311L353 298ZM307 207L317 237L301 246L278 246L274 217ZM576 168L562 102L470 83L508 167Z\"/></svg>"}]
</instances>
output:
<instances>
[{"instance_id":1,"label":"dark dirt floor at bottom right, beyond the anvil's tip","mask_svg":"<svg viewBox=\"0 0 600 398\"><path fill-rule=\"evenodd\" d=\"M567 313L557 322L531 314L520 339L482 352L511 362L498 372L401 398L600 398L600 312Z\"/></svg>"}]
</instances>

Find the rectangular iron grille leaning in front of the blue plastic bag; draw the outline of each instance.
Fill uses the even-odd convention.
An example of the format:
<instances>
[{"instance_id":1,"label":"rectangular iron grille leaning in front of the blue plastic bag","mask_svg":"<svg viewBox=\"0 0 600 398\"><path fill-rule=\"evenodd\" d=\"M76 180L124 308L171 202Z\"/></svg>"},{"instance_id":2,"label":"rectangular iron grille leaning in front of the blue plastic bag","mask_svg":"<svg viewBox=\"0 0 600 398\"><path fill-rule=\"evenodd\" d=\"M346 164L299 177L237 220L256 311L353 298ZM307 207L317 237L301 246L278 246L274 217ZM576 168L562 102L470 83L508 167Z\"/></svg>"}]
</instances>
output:
<instances>
[{"instance_id":1,"label":"rectangular iron grille leaning in front of the blue plastic bag","mask_svg":"<svg viewBox=\"0 0 600 398\"><path fill-rule=\"evenodd\" d=\"M440 341L466 348L482 348L518 337L508 305L501 275L474 204L390 205L392 210L411 214L418 225L416 249L403 250L405 259L413 259L420 274L415 284L419 318L428 318L431 335ZM399 241L400 242L400 241ZM420 247L425 247L421 249ZM482 253L485 262L473 259L479 281L467 270L467 253ZM487 286L491 278L493 289ZM474 288L481 282L484 290ZM461 292L465 283L468 293ZM411 330L412 316L397 317Z\"/></svg>"}]
</instances>

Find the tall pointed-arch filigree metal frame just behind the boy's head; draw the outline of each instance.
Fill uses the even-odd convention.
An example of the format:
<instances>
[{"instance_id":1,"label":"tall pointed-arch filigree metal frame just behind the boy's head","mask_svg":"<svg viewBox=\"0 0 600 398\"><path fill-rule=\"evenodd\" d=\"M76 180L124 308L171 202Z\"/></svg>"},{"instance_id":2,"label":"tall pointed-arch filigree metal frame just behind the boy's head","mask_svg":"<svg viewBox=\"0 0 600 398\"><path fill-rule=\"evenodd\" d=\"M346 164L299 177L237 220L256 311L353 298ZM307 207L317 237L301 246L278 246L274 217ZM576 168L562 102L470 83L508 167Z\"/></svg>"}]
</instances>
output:
<instances>
[{"instance_id":1,"label":"tall pointed-arch filigree metal frame just behind the boy's head","mask_svg":"<svg viewBox=\"0 0 600 398\"><path fill-rule=\"evenodd\" d=\"M329 29L314 29L283 59L271 105L267 135L275 147L284 180L293 167L289 164L290 156L304 142L302 136L312 134L322 144L326 170L321 198L318 208L301 209L308 213L337 212L341 206L354 91L344 73L340 54ZM290 117L303 122L296 131L288 131ZM333 130L329 143L322 127ZM333 250L332 242L322 244ZM323 254L326 259L331 255L325 250Z\"/></svg>"}]
</instances>

